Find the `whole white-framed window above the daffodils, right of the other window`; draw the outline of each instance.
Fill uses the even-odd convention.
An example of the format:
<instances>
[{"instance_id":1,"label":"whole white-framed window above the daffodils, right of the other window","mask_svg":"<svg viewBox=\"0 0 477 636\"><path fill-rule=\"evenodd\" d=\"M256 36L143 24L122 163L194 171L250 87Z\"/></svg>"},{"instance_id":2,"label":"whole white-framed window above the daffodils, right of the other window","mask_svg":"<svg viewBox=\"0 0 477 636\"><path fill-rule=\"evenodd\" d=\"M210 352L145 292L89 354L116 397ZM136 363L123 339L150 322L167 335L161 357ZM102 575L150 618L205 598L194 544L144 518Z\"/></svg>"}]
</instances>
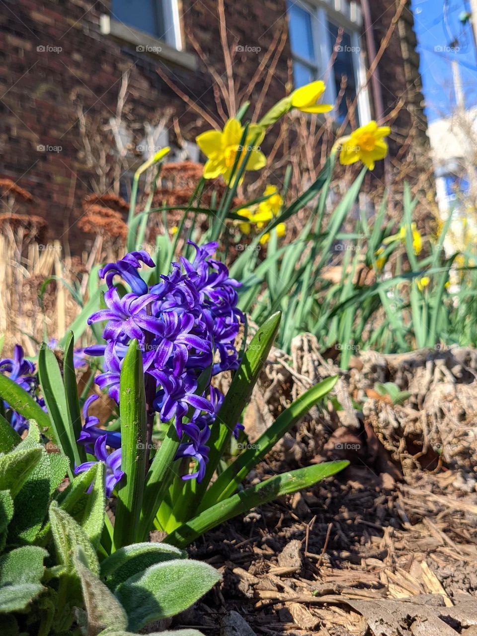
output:
<instances>
[{"instance_id":1,"label":"whole white-framed window above the daffodils, right of the other window","mask_svg":"<svg viewBox=\"0 0 477 636\"><path fill-rule=\"evenodd\" d=\"M293 81L295 88L314 79L326 83L324 101L336 102L345 78L345 93L336 108L335 118L342 123L348 112L348 103L357 96L355 113L358 123L371 119L370 103L364 84L366 69L361 55L361 13L355 2L349 0L287 0L289 36L293 55ZM340 29L343 29L339 39ZM330 60L335 57L333 68Z\"/></svg>"}]
</instances>

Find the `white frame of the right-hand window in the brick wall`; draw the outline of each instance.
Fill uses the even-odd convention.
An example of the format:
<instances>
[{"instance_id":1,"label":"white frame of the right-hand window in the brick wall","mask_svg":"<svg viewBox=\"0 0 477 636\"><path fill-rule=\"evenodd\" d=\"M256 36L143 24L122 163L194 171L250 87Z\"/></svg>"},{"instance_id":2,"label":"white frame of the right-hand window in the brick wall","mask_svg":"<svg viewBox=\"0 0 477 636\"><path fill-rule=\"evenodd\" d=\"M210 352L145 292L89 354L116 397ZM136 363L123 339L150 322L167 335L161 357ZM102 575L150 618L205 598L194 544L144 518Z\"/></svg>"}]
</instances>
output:
<instances>
[{"instance_id":1,"label":"white frame of the right-hand window in the brick wall","mask_svg":"<svg viewBox=\"0 0 477 636\"><path fill-rule=\"evenodd\" d=\"M342 27L350 36L353 57L354 81L357 92L357 111L359 122L364 125L371 121L371 106L368 86L366 86L366 57L361 47L359 32L363 24L361 9L356 1L348 3L346 0L292 0L294 4L307 11L311 17L312 41L315 52L314 69L317 79L324 79L326 92L323 101L335 104L336 87L334 81L326 81L331 50L334 41L328 30L328 21ZM303 59L292 51L293 60L310 66L310 61ZM328 78L329 79L329 78ZM331 113L333 114L333 113Z\"/></svg>"}]
</instances>

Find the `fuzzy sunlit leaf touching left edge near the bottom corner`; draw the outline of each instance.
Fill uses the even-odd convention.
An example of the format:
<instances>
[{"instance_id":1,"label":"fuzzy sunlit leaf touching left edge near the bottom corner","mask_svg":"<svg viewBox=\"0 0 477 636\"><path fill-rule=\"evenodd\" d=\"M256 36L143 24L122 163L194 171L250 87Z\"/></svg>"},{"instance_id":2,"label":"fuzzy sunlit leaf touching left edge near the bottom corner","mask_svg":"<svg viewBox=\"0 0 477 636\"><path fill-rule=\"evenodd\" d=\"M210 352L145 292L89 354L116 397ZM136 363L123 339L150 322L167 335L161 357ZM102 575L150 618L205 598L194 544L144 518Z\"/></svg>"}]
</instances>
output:
<instances>
[{"instance_id":1,"label":"fuzzy sunlit leaf touching left edge near the bottom corner","mask_svg":"<svg viewBox=\"0 0 477 636\"><path fill-rule=\"evenodd\" d=\"M0 587L22 583L40 583L48 552L38 546L24 546L0 557Z\"/></svg>"}]
</instances>

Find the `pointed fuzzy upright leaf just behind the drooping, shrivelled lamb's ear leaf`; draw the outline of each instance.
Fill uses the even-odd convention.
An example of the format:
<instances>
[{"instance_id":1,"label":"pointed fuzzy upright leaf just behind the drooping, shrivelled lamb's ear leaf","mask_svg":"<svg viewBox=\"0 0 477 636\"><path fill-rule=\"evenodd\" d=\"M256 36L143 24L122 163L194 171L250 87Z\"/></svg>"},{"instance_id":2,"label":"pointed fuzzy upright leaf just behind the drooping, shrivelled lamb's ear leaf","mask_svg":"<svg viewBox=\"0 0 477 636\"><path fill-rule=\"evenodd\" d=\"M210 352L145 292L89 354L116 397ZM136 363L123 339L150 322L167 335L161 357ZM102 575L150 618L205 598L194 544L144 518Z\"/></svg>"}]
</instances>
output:
<instances>
[{"instance_id":1,"label":"pointed fuzzy upright leaf just behind the drooping, shrivelled lamb's ear leaf","mask_svg":"<svg viewBox=\"0 0 477 636\"><path fill-rule=\"evenodd\" d=\"M74 572L73 553L77 546L81 546L88 569L94 574L99 574L96 551L86 536L85 530L55 501L50 504L50 523L58 560L63 563L66 571Z\"/></svg>"}]
</instances>

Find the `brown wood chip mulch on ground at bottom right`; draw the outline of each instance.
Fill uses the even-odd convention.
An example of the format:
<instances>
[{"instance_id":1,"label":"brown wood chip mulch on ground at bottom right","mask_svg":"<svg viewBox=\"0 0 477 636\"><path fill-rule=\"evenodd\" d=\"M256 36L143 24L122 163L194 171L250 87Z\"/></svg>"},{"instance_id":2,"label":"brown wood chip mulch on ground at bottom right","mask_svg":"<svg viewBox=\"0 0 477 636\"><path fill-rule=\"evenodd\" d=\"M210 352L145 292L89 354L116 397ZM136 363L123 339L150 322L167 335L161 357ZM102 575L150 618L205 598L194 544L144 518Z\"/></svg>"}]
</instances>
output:
<instances>
[{"instance_id":1,"label":"brown wood chip mulch on ground at bottom right","mask_svg":"<svg viewBox=\"0 0 477 636\"><path fill-rule=\"evenodd\" d=\"M477 494L351 466L202 537L223 575L173 628L207 636L477 635Z\"/></svg>"}]
</instances>

